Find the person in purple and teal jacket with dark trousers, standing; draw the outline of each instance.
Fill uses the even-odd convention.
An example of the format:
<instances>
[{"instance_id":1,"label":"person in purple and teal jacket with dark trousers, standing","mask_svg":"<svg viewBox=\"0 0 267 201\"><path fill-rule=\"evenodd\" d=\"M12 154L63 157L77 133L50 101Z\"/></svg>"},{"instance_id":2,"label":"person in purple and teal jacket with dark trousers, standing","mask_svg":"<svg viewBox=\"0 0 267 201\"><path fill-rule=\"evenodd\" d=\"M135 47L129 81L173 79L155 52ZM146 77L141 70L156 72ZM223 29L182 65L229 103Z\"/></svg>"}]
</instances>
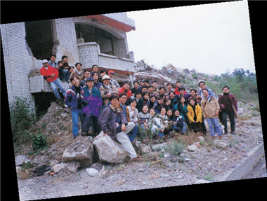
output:
<instances>
[{"instance_id":1,"label":"person in purple and teal jacket with dark trousers, standing","mask_svg":"<svg viewBox=\"0 0 267 201\"><path fill-rule=\"evenodd\" d=\"M97 135L100 132L98 118L100 116L103 100L100 91L93 85L93 78L87 78L86 86L84 87L84 102L82 107L82 112L84 113L84 127L82 127L82 135ZM91 127L93 127L92 130Z\"/></svg>"}]
</instances>

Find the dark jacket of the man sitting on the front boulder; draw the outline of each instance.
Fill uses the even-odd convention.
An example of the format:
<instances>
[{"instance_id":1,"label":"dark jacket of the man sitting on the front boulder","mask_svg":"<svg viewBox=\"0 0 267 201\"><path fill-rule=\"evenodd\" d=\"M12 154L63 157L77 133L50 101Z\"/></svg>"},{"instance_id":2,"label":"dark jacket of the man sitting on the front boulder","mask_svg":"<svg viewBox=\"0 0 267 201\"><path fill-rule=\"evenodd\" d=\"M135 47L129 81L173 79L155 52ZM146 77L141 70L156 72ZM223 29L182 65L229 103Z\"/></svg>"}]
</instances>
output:
<instances>
[{"instance_id":1,"label":"dark jacket of the man sitting on the front boulder","mask_svg":"<svg viewBox=\"0 0 267 201\"><path fill-rule=\"evenodd\" d=\"M111 106L106 107L103 109L102 113L98 118L98 123L102 128L104 133L108 133L112 139L117 139L117 132L116 132L116 118L119 117L122 120L122 124L127 124L127 119L123 115L123 112L119 109L112 109Z\"/></svg>"}]
</instances>

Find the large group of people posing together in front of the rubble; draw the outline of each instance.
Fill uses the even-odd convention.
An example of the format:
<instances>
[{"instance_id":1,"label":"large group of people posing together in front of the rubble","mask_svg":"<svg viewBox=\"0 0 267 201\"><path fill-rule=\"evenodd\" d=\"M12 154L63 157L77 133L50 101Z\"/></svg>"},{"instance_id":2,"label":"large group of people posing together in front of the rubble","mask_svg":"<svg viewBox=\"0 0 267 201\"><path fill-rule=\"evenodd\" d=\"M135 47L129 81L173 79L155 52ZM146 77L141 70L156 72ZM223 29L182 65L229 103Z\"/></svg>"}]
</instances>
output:
<instances>
[{"instance_id":1,"label":"large group of people posing together in front of the rubble","mask_svg":"<svg viewBox=\"0 0 267 201\"><path fill-rule=\"evenodd\" d=\"M223 87L219 99L204 81L199 83L199 92L191 89L190 93L181 87L181 81L175 85L167 83L166 88L158 87L157 81L134 81L130 89L129 81L124 81L121 87L113 78L114 71L98 72L98 65L93 65L91 71L83 71L81 63L73 69L65 67L67 56L56 62L56 55L51 55L49 62L43 61L40 73L51 84L57 101L60 102L60 95L56 86L63 94L65 106L71 109L74 139L79 135L80 119L82 135L108 134L125 146L131 158L137 158L132 142L138 130L150 130L159 138L188 130L206 134L207 120L211 137L215 139L218 134L221 139L219 120L228 134L229 116L231 133L235 134L237 101L228 86ZM70 81L67 91L60 80Z\"/></svg>"}]
</instances>

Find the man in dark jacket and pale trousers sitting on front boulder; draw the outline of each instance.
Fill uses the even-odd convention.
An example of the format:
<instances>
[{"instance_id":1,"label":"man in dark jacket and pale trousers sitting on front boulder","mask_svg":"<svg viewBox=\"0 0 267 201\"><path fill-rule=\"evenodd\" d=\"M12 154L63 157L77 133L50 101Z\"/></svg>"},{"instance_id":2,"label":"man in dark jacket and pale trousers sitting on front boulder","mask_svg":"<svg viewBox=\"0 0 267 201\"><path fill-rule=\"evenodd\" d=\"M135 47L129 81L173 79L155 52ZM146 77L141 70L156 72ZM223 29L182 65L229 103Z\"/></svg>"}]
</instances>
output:
<instances>
[{"instance_id":1,"label":"man in dark jacket and pale trousers sitting on front boulder","mask_svg":"<svg viewBox=\"0 0 267 201\"><path fill-rule=\"evenodd\" d=\"M100 135L105 137L108 134L111 139L121 144L124 150L129 153L131 161L138 161L140 158L137 157L136 151L126 135L135 125L132 122L127 122L123 112L117 108L118 103L119 97L110 96L110 106L106 107L98 118L98 122L103 129Z\"/></svg>"}]
</instances>

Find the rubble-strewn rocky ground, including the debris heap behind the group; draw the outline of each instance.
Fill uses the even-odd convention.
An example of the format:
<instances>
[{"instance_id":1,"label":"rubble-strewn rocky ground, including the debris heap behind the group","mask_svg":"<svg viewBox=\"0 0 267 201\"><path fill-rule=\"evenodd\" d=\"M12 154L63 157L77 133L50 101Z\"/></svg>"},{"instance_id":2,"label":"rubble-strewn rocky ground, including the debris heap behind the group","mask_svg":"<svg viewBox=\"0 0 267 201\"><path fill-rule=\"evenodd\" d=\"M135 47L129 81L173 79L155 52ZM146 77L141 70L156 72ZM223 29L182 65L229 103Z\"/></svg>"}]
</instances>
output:
<instances>
[{"instance_id":1,"label":"rubble-strewn rocky ground, including the debris heap behind the group","mask_svg":"<svg viewBox=\"0 0 267 201\"><path fill-rule=\"evenodd\" d=\"M151 67L136 66L136 79L149 78L159 85L177 78L186 88L196 88L200 79L212 81L212 76L197 74L188 69L172 66L157 71ZM176 72L174 74L171 71ZM179 77L177 77L179 76ZM258 106L258 104L256 104ZM16 149L16 165L20 200L39 200L52 197L89 195L167 186L183 186L195 183L221 181L230 169L235 169L247 153L254 147L263 145L261 116L253 103L238 102L239 118L236 121L237 134L223 134L223 139L212 140L209 132L202 134L170 134L163 140L141 141L134 147L141 155L141 162L126 162L115 165L94 161L90 167L77 169L72 164L63 168L63 153L73 144L72 118L70 109L51 102L47 113L30 130L41 133L48 139L48 146L34 151L32 144ZM230 123L228 123L229 125ZM230 128L229 128L230 130ZM76 141L87 141L88 137L78 137ZM183 153L174 155L169 147L174 141L183 141ZM143 144L142 144L143 143ZM157 147L156 147L157 146ZM18 156L20 155L20 157ZM21 156L23 155L23 156ZM27 161L30 166L22 167ZM266 176L265 160L256 165L245 179ZM48 167L45 174L36 176L32 172L40 165ZM55 166L56 165L56 166ZM53 167L51 172L50 167ZM258 170L257 170L258 168ZM259 171L260 170L260 171ZM257 172L261 172L258 174ZM250 176L250 177L249 177Z\"/></svg>"}]
</instances>

